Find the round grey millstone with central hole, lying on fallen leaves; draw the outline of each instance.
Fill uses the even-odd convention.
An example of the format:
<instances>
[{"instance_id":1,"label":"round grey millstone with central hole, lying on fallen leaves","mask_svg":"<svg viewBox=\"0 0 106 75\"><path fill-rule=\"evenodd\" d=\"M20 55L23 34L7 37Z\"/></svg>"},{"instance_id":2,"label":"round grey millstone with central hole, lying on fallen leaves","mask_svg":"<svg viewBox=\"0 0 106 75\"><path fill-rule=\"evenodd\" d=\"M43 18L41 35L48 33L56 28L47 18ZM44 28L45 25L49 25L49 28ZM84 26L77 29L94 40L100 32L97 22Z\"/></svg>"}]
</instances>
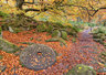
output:
<instances>
[{"instance_id":1,"label":"round grey millstone with central hole, lying on fallen leaves","mask_svg":"<svg viewBox=\"0 0 106 75\"><path fill-rule=\"evenodd\" d=\"M55 52L43 44L33 44L24 49L20 54L20 62L31 69L44 69L56 62Z\"/></svg>"}]
</instances>

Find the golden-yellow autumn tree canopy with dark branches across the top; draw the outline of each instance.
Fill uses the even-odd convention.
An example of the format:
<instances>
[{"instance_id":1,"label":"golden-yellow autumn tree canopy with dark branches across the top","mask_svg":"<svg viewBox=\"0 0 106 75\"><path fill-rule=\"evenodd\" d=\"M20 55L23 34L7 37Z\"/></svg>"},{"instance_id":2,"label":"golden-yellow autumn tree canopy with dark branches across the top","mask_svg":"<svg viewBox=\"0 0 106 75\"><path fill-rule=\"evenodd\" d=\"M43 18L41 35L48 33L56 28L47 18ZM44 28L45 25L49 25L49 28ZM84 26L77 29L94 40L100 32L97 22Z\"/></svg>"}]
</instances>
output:
<instances>
[{"instance_id":1,"label":"golden-yellow autumn tree canopy with dark branches across the top","mask_svg":"<svg viewBox=\"0 0 106 75\"><path fill-rule=\"evenodd\" d=\"M1 0L1 2L17 7L25 13L34 11L36 12L34 17L52 13L65 19L80 17L85 21L91 21L99 10L106 9L105 0Z\"/></svg>"}]
</instances>

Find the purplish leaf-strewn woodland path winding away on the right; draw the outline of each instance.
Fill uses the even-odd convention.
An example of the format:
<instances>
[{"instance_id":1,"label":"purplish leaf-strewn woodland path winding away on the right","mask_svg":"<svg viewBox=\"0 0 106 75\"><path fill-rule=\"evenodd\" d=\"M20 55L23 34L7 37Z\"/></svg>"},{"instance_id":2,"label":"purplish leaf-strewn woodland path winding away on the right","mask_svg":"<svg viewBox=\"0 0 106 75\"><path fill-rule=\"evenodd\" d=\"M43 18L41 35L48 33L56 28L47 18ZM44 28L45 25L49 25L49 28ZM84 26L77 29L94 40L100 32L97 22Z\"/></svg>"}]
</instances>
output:
<instances>
[{"instance_id":1,"label":"purplish leaf-strewn woodland path winding away on the right","mask_svg":"<svg viewBox=\"0 0 106 75\"><path fill-rule=\"evenodd\" d=\"M100 62L98 54L105 51L105 49L93 41L93 36L89 34L93 29L89 28L78 34L78 42L74 43L73 50L68 52L68 55L76 61L76 64L89 65L97 69L100 67L98 65L98 62ZM71 65L74 63L75 62L71 63Z\"/></svg>"}]
</instances>

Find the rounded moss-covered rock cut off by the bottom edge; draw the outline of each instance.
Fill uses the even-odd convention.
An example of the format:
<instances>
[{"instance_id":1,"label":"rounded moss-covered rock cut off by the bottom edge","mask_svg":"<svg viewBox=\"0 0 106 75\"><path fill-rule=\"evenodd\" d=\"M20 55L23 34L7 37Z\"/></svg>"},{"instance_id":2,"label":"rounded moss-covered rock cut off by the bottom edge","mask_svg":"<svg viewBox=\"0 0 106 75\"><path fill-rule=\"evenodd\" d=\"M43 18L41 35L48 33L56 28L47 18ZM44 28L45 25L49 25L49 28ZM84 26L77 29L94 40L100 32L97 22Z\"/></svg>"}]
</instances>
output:
<instances>
[{"instance_id":1,"label":"rounded moss-covered rock cut off by the bottom edge","mask_svg":"<svg viewBox=\"0 0 106 75\"><path fill-rule=\"evenodd\" d=\"M66 75L96 75L96 72L89 66L78 64L68 71Z\"/></svg>"}]
</instances>

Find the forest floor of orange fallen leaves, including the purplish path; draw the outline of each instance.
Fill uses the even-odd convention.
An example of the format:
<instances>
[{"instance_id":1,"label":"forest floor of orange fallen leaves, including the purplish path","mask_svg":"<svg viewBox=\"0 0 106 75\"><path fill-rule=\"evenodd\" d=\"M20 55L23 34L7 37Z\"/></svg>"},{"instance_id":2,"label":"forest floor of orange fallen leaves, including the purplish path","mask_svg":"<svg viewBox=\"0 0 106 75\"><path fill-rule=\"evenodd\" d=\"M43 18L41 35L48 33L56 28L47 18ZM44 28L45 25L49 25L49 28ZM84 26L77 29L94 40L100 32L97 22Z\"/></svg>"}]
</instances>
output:
<instances>
[{"instance_id":1,"label":"forest floor of orange fallen leaves, including the purplish path","mask_svg":"<svg viewBox=\"0 0 106 75\"><path fill-rule=\"evenodd\" d=\"M51 39L51 35L47 35L46 32L34 33L34 30L32 30L15 34L9 31L3 31L3 39L20 47L28 46L28 44L22 44L21 42L45 44L54 49L57 52L57 56L54 65L46 69L33 71L22 67L19 62L19 56L0 51L0 55L3 55L3 58L0 60L0 62L3 62L3 64L7 65L6 71L2 72L1 75L13 75L13 65L17 67L15 73L18 75L63 75L77 64L89 65L97 71L98 68L104 67L98 64L98 55L106 49L99 43L94 42L88 32L89 29L80 32L75 43L72 42L73 38L68 36L70 40L66 41L67 46L61 46L59 42L45 42L45 40ZM31 38L33 38L33 40L31 40Z\"/></svg>"}]
</instances>

